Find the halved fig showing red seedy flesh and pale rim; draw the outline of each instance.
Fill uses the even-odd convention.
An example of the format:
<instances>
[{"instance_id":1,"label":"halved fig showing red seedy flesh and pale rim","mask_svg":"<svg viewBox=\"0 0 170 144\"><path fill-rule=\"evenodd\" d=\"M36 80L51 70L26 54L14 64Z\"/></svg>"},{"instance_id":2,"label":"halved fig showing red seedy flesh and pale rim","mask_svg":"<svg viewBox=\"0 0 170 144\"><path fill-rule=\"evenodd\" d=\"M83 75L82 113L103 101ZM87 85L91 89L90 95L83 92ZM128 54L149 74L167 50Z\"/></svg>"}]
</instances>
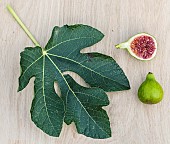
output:
<instances>
[{"instance_id":1,"label":"halved fig showing red seedy flesh and pale rim","mask_svg":"<svg viewBox=\"0 0 170 144\"><path fill-rule=\"evenodd\" d=\"M157 52L156 39L147 33L140 33L131 37L128 41L116 45L116 48L125 48L139 60L151 60Z\"/></svg>"}]
</instances>

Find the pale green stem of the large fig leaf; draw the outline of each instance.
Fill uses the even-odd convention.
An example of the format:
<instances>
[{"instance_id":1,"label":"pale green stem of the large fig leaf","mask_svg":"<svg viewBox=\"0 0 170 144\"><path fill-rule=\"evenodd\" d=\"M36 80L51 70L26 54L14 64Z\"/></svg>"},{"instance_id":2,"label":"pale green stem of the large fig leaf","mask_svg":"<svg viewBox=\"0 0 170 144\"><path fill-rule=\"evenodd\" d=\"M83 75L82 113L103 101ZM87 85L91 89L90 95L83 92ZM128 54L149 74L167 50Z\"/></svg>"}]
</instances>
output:
<instances>
[{"instance_id":1,"label":"pale green stem of the large fig leaf","mask_svg":"<svg viewBox=\"0 0 170 144\"><path fill-rule=\"evenodd\" d=\"M24 25L24 23L21 21L21 19L17 16L13 8L8 4L7 5L8 11L12 14L12 16L15 18L15 20L18 22L18 24L21 26L21 28L25 31L25 33L28 35L28 37L32 40L32 42L40 47L40 44L36 41L34 36L31 34L31 32L27 29L27 27Z\"/></svg>"}]
</instances>

